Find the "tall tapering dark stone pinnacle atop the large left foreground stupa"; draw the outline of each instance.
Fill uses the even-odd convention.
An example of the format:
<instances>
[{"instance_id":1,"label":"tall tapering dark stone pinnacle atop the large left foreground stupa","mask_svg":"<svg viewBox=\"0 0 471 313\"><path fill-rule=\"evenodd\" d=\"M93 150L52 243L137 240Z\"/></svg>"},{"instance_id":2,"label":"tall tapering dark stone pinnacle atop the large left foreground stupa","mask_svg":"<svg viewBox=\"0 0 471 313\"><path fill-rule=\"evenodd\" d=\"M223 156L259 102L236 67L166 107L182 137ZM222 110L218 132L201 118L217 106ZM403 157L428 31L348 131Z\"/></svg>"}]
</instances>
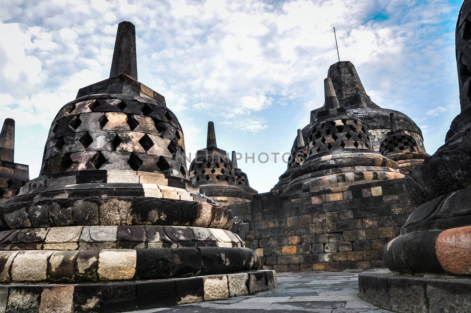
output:
<instances>
[{"instance_id":1,"label":"tall tapering dark stone pinnacle atop the large left foreground stupa","mask_svg":"<svg viewBox=\"0 0 471 313\"><path fill-rule=\"evenodd\" d=\"M136 27L127 21L118 24L110 77L120 74L127 74L135 80L138 79Z\"/></svg>"}]
</instances>

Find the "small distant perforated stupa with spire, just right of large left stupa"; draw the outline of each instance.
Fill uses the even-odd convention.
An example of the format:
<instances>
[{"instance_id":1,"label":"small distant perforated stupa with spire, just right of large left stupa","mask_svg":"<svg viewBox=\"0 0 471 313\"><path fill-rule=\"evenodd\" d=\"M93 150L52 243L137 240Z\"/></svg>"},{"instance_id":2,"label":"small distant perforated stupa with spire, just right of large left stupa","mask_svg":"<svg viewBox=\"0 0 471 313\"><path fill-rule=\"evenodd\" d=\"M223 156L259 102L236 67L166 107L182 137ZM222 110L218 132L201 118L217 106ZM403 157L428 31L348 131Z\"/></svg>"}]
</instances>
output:
<instances>
[{"instance_id":1,"label":"small distant perforated stupa with spire, just right of large left stupa","mask_svg":"<svg viewBox=\"0 0 471 313\"><path fill-rule=\"evenodd\" d=\"M236 166L226 151L217 147L214 123L208 122L206 148L196 152L190 165L191 181L220 206L252 201L257 191L249 186L247 175Z\"/></svg>"}]
</instances>

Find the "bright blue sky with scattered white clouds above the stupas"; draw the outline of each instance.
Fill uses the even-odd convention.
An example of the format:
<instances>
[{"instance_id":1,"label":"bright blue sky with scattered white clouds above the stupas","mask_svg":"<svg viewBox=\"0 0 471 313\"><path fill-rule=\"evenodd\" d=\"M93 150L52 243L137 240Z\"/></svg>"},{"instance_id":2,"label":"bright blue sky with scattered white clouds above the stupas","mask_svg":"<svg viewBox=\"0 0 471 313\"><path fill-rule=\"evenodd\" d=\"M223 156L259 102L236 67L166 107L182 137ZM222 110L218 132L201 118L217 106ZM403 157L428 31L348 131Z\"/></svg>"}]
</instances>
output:
<instances>
[{"instance_id":1,"label":"bright blue sky with scattered white clouds above the stupas","mask_svg":"<svg viewBox=\"0 0 471 313\"><path fill-rule=\"evenodd\" d=\"M414 119L433 154L459 112L462 2L1 0L0 118L16 120L15 161L37 177L54 116L108 77L117 24L128 20L139 81L165 96L188 153L205 146L211 120L219 148L282 154L324 102L335 26L341 60L353 62L375 103ZM265 192L286 168L276 161L238 165Z\"/></svg>"}]
</instances>

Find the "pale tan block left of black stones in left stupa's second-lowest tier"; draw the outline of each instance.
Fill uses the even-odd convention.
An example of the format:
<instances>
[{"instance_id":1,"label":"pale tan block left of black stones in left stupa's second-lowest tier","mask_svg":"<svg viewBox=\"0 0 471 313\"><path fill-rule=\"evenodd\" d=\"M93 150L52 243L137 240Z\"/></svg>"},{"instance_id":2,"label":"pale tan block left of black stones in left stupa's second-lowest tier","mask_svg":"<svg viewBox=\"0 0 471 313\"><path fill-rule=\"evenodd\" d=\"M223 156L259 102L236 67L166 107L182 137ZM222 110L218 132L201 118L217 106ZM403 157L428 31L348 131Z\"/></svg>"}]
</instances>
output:
<instances>
[{"instance_id":1,"label":"pale tan block left of black stones in left stupa's second-lowest tier","mask_svg":"<svg viewBox=\"0 0 471 313\"><path fill-rule=\"evenodd\" d=\"M98 255L100 280L130 280L136 273L136 250L101 250Z\"/></svg>"}]
</instances>

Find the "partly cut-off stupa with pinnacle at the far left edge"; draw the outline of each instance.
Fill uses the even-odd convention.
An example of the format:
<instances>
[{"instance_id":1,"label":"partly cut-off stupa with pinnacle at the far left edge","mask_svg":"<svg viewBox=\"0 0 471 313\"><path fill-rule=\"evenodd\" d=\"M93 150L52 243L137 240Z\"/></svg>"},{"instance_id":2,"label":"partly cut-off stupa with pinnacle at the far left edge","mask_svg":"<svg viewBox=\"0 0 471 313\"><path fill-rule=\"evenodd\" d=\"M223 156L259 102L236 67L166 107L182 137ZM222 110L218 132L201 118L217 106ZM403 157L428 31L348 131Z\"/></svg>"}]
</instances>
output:
<instances>
[{"instance_id":1,"label":"partly cut-off stupa with pinnacle at the far left edge","mask_svg":"<svg viewBox=\"0 0 471 313\"><path fill-rule=\"evenodd\" d=\"M5 119L0 132L0 204L29 181L28 165L15 163L15 121Z\"/></svg>"}]
</instances>

